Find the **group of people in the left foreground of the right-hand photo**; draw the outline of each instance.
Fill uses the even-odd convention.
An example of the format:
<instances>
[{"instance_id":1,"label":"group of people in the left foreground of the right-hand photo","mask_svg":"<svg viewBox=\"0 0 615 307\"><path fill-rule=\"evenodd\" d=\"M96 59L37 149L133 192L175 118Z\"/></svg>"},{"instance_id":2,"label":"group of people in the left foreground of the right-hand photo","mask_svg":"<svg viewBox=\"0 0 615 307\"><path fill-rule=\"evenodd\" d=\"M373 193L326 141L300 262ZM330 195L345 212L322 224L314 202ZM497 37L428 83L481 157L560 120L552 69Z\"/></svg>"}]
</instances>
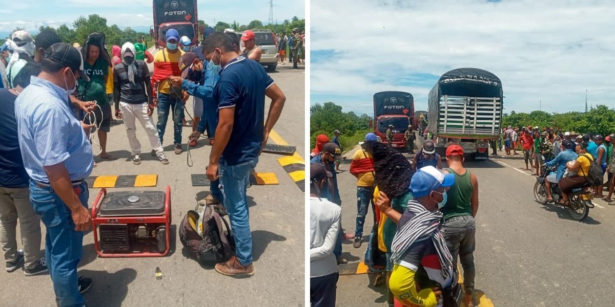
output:
<instances>
[{"instance_id":1,"label":"group of people in the left foreground of the right-hand photo","mask_svg":"<svg viewBox=\"0 0 615 307\"><path fill-rule=\"evenodd\" d=\"M464 303L474 306L474 249L478 180L464 168L458 145L446 150L442 169L433 142L427 141L409 161L396 149L365 135L352 155L349 173L357 180L354 234L341 225L341 198L336 161L341 148L324 134L317 136L310 165L310 301L335 306L337 265L343 239L363 242L370 208L374 226L368 232L365 263L386 276L389 306L456 306L461 292L457 258L464 274Z\"/></svg>"}]
</instances>

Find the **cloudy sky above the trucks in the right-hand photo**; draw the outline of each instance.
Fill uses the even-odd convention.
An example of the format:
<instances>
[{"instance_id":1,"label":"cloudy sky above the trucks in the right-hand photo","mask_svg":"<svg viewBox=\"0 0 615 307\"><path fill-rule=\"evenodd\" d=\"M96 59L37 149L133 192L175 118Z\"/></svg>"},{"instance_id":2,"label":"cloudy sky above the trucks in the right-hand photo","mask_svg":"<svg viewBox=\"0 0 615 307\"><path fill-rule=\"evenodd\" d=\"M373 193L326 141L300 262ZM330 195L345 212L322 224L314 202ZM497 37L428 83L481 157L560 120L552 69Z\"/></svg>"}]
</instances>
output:
<instances>
[{"instance_id":1,"label":"cloudy sky above the trucks in the right-hand photo","mask_svg":"<svg viewBox=\"0 0 615 307\"><path fill-rule=\"evenodd\" d=\"M373 115L373 94L408 91L416 110L446 71L502 81L504 112L613 108L613 1L312 0L311 104Z\"/></svg>"}]
</instances>

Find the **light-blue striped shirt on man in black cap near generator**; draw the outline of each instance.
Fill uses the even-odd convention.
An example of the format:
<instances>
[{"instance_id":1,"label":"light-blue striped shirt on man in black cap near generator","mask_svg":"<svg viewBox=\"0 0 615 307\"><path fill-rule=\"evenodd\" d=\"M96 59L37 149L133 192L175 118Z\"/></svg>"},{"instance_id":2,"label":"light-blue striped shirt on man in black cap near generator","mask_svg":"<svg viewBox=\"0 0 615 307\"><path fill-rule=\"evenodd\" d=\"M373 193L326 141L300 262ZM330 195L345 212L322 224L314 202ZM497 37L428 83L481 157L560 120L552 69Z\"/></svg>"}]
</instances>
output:
<instances>
[{"instance_id":1,"label":"light-blue striped shirt on man in black cap near generator","mask_svg":"<svg viewBox=\"0 0 615 307\"><path fill-rule=\"evenodd\" d=\"M49 182L43 166L64 162L71 181L92 173L92 146L71 111L66 90L31 77L15 101L23 166L34 181Z\"/></svg>"}]
</instances>

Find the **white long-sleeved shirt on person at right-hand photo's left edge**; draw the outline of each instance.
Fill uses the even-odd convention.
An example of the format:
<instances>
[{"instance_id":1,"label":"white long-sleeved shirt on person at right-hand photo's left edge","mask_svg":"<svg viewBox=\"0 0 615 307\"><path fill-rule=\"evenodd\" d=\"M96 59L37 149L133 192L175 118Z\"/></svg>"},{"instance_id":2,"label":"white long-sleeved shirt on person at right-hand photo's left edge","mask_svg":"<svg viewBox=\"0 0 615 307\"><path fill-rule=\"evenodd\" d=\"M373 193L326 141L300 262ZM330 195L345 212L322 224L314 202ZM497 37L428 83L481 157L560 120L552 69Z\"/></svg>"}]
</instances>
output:
<instances>
[{"instance_id":1,"label":"white long-sleeved shirt on person at right-hand photo's left edge","mask_svg":"<svg viewBox=\"0 0 615 307\"><path fill-rule=\"evenodd\" d=\"M338 238L342 209L326 198L309 198L309 277L320 277L338 271L333 247Z\"/></svg>"}]
</instances>

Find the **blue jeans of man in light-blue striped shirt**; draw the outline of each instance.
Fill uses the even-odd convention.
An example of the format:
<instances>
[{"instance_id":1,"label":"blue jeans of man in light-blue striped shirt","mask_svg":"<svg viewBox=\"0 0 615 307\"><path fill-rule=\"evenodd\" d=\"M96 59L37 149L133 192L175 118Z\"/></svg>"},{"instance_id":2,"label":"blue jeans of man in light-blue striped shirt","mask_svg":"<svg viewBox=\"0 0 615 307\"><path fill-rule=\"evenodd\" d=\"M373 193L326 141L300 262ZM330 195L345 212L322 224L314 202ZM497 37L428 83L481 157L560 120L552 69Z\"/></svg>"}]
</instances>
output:
<instances>
[{"instance_id":1,"label":"blue jeans of man in light-blue striped shirt","mask_svg":"<svg viewBox=\"0 0 615 307\"><path fill-rule=\"evenodd\" d=\"M87 208L87 184L79 185L79 200ZM30 181L30 202L47 229L45 258L60 306L83 306L77 285L77 264L83 254L83 231L74 230L71 211L50 187L37 187Z\"/></svg>"}]
</instances>

